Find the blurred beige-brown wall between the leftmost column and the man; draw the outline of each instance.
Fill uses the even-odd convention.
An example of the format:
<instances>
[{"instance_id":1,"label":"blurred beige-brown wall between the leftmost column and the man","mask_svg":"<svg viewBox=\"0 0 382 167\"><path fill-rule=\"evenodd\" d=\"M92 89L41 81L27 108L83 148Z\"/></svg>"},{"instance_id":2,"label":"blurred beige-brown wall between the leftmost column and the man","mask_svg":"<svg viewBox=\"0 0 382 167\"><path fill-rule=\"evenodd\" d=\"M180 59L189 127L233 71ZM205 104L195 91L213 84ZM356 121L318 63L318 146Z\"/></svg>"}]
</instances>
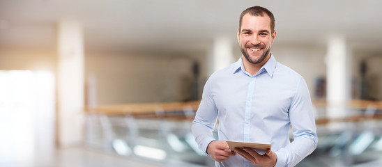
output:
<instances>
[{"instance_id":1,"label":"blurred beige-brown wall between the leftmost column and the man","mask_svg":"<svg viewBox=\"0 0 382 167\"><path fill-rule=\"evenodd\" d=\"M95 91L91 94L97 95L96 102L91 103L191 100L192 65L195 60L171 54L87 54L87 86L95 87L88 90Z\"/></svg>"}]
</instances>

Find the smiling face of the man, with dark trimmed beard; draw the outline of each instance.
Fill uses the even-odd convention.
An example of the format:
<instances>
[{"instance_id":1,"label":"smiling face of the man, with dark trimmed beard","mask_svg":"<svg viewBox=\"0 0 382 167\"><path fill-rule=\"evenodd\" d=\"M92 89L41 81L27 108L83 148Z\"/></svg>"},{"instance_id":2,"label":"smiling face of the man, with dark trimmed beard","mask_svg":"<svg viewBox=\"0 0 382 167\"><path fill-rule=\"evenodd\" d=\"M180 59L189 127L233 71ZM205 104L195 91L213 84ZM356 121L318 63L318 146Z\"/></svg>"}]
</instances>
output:
<instances>
[{"instance_id":1,"label":"smiling face of the man, with dark trimmed beard","mask_svg":"<svg viewBox=\"0 0 382 167\"><path fill-rule=\"evenodd\" d=\"M270 47L275 40L276 31L271 34L270 18L268 15L252 16L246 14L238 30L238 42L245 59L250 63L263 62L270 56Z\"/></svg>"}]
</instances>

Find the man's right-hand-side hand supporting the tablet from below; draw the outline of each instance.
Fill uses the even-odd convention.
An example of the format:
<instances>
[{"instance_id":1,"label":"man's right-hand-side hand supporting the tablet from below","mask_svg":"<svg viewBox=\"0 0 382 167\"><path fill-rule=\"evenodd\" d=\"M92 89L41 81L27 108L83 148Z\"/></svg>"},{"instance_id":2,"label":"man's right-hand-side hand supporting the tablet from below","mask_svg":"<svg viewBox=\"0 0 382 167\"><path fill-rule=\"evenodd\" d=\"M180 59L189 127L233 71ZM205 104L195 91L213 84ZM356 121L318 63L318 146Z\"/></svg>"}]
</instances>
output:
<instances>
[{"instance_id":1,"label":"man's right-hand-side hand supporting the tablet from below","mask_svg":"<svg viewBox=\"0 0 382 167\"><path fill-rule=\"evenodd\" d=\"M252 148L235 148L235 152L255 166L275 166L277 161L277 154L272 150L267 150L266 154L262 155Z\"/></svg>"}]
</instances>

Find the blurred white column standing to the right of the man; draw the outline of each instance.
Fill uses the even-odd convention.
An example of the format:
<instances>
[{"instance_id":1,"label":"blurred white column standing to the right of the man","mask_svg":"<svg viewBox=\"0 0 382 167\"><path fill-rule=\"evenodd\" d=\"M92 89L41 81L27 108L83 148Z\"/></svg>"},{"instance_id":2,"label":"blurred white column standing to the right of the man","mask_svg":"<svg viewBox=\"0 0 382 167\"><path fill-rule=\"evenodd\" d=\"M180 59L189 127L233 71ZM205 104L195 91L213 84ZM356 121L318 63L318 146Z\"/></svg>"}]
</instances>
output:
<instances>
[{"instance_id":1,"label":"blurred white column standing to the right of the man","mask_svg":"<svg viewBox=\"0 0 382 167\"><path fill-rule=\"evenodd\" d=\"M346 116L345 104L351 95L351 51L345 38L334 37L328 40L326 65L328 117Z\"/></svg>"}]
</instances>

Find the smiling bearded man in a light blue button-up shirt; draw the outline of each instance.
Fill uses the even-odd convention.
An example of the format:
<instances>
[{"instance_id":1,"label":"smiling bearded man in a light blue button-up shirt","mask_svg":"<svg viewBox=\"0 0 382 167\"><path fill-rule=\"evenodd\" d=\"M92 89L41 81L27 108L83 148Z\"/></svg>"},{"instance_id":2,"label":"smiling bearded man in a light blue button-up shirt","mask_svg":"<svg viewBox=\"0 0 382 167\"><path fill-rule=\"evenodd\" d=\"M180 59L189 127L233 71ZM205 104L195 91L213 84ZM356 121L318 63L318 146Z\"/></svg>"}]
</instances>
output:
<instances>
[{"instance_id":1,"label":"smiling bearded man in a light blue button-up shirt","mask_svg":"<svg viewBox=\"0 0 382 167\"><path fill-rule=\"evenodd\" d=\"M204 86L192 122L195 140L216 166L295 166L313 152L318 141L305 80L270 53L275 19L266 8L244 10L237 37L242 56L212 74ZM216 119L219 141L212 132ZM233 152L226 141L269 143L272 150Z\"/></svg>"}]
</instances>

